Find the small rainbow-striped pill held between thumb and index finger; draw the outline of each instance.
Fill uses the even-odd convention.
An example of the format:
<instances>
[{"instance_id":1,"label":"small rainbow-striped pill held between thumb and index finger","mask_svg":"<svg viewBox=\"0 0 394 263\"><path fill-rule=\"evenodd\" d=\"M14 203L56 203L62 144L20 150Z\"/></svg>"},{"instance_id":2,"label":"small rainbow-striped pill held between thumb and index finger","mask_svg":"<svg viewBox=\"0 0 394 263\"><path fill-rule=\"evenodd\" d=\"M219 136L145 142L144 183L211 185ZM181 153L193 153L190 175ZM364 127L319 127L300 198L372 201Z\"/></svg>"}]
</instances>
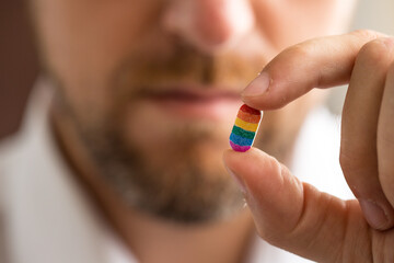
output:
<instances>
[{"instance_id":1,"label":"small rainbow-striped pill held between thumb and index finger","mask_svg":"<svg viewBox=\"0 0 394 263\"><path fill-rule=\"evenodd\" d=\"M243 104L230 135L230 146L235 151L247 151L253 145L262 112Z\"/></svg>"}]
</instances>

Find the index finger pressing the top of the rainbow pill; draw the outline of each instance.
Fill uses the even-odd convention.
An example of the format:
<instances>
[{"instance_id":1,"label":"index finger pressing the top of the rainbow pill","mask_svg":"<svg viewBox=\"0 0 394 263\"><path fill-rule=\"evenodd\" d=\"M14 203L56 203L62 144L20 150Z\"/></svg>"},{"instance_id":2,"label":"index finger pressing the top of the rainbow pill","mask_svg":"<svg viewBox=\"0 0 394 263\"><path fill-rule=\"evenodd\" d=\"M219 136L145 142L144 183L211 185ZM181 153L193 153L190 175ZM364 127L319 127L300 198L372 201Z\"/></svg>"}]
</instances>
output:
<instances>
[{"instance_id":1,"label":"index finger pressing the top of the rainbow pill","mask_svg":"<svg viewBox=\"0 0 394 263\"><path fill-rule=\"evenodd\" d=\"M347 83L361 47L380 36L384 35L355 31L291 46L274 58L246 87L243 101L258 110L276 110L313 88Z\"/></svg>"}]
</instances>

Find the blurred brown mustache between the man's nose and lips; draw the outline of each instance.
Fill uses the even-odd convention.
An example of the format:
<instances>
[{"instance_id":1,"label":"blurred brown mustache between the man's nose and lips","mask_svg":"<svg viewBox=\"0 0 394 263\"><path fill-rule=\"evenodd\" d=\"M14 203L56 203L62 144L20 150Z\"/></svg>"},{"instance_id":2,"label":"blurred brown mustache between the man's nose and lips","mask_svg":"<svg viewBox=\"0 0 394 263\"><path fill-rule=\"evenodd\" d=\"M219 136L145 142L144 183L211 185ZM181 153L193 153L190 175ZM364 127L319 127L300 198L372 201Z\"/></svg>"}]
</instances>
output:
<instances>
[{"instance_id":1,"label":"blurred brown mustache between the man's nose and lips","mask_svg":"<svg viewBox=\"0 0 394 263\"><path fill-rule=\"evenodd\" d=\"M246 57L237 53L204 54L186 44L171 52L138 52L129 56L115 73L121 93L147 93L165 87L225 87L240 91L266 64L263 55Z\"/></svg>"}]
</instances>

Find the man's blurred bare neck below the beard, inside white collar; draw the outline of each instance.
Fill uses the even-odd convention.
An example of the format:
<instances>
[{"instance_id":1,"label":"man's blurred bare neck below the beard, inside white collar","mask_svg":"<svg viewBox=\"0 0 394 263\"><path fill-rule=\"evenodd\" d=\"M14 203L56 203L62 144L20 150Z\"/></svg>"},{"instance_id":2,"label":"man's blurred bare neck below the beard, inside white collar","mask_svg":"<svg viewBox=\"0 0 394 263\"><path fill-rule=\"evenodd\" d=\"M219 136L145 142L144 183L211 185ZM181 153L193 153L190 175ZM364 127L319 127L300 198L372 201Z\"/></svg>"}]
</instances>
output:
<instances>
[{"instance_id":1,"label":"man's blurred bare neck below the beard, inside white collar","mask_svg":"<svg viewBox=\"0 0 394 263\"><path fill-rule=\"evenodd\" d=\"M101 180L77 132L67 117L53 111L59 146L108 225L125 241L140 262L243 262L253 237L253 220L247 208L227 220L184 225L130 209Z\"/></svg>"}]
</instances>

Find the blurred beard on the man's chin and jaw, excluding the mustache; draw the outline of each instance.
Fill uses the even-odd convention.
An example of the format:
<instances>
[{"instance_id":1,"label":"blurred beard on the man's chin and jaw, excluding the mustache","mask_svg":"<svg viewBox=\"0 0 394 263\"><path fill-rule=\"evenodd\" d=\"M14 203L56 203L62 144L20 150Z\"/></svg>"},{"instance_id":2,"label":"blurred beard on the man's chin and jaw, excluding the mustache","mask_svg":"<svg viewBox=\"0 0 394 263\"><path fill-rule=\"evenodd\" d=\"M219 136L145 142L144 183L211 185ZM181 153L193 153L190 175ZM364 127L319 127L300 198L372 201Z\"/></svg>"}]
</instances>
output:
<instances>
[{"instance_id":1,"label":"blurred beard on the man's chin and jaw, excluding the mustache","mask_svg":"<svg viewBox=\"0 0 394 263\"><path fill-rule=\"evenodd\" d=\"M106 125L105 127L116 127ZM196 125L172 130L164 145L125 144L120 130L81 133L100 175L131 209L184 224L224 219L237 213L244 199L221 164L204 152L215 130ZM222 147L220 147L222 150ZM206 164L206 159L215 160Z\"/></svg>"}]
</instances>

